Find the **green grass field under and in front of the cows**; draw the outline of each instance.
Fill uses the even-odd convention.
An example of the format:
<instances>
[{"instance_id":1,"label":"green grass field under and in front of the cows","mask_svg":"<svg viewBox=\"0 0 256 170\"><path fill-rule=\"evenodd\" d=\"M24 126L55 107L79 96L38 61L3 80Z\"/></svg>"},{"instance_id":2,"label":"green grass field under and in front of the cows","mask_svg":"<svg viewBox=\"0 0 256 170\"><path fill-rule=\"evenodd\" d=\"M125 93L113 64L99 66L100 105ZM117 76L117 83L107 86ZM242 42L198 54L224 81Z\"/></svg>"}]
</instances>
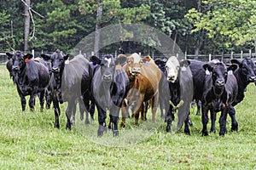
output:
<instances>
[{"instance_id":1,"label":"green grass field under and in front of the cows","mask_svg":"<svg viewBox=\"0 0 256 170\"><path fill-rule=\"evenodd\" d=\"M4 66L0 66L0 92L1 169L256 169L254 84L247 88L246 98L236 106L238 133L230 132L229 118L224 138L218 133L202 137L201 116L195 116L194 109L190 136L183 131L166 133L163 122L148 136L147 130L131 126L130 130L120 130L116 139L111 132L96 138L93 130L97 127L96 121L88 127L78 121L69 131L65 129L67 104L61 105L61 128L55 129L53 110L40 112L38 100L36 111L21 111L20 98ZM218 122L216 127L218 132ZM90 128L90 132L83 131ZM86 133L92 133L93 137L88 138L90 134ZM132 144L132 140L127 145L100 142L121 142L133 135L144 137L136 144Z\"/></svg>"}]
</instances>

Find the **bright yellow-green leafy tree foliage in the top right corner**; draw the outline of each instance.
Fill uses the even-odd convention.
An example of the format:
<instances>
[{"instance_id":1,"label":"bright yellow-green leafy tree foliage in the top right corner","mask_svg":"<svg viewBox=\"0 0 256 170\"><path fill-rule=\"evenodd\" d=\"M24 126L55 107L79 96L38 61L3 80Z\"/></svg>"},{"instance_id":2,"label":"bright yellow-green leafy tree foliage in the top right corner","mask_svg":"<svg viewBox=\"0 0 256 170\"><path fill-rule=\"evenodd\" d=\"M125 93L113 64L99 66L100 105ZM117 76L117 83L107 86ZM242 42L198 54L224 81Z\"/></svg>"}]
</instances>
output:
<instances>
[{"instance_id":1,"label":"bright yellow-green leafy tree foliage in the top right corner","mask_svg":"<svg viewBox=\"0 0 256 170\"><path fill-rule=\"evenodd\" d=\"M256 40L256 1L202 1L202 11L191 8L186 17L194 23L193 31L204 30L207 37L221 36L225 48L234 45L253 45Z\"/></svg>"}]
</instances>

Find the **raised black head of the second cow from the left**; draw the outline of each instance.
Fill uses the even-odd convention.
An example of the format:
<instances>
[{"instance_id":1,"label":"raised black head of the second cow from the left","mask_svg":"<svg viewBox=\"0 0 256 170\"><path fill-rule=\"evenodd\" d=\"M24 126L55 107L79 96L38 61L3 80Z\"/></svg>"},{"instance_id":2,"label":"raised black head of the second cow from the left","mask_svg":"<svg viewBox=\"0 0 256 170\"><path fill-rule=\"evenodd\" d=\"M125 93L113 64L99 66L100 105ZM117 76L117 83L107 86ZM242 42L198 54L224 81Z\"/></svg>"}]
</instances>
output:
<instances>
[{"instance_id":1,"label":"raised black head of the second cow from the left","mask_svg":"<svg viewBox=\"0 0 256 170\"><path fill-rule=\"evenodd\" d=\"M70 54L63 54L59 49L57 49L53 54L41 54L41 57L51 61L51 71L53 73L60 73L63 71L65 66L65 60L68 59Z\"/></svg>"}]
</instances>

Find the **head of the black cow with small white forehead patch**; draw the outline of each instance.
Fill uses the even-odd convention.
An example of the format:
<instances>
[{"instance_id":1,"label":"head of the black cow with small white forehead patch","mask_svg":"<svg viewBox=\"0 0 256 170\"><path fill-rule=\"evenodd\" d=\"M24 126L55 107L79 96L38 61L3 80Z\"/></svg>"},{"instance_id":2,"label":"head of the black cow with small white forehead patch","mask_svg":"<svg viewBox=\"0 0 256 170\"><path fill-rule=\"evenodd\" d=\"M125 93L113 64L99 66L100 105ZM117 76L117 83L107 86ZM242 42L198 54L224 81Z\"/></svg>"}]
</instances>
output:
<instances>
[{"instance_id":1,"label":"head of the black cow with small white forehead patch","mask_svg":"<svg viewBox=\"0 0 256 170\"><path fill-rule=\"evenodd\" d=\"M121 65L125 62L125 57L113 58L113 55L106 54L102 59L96 56L91 56L90 60L97 65L101 65L102 81L113 82L113 75L116 70L116 65Z\"/></svg>"}]
</instances>

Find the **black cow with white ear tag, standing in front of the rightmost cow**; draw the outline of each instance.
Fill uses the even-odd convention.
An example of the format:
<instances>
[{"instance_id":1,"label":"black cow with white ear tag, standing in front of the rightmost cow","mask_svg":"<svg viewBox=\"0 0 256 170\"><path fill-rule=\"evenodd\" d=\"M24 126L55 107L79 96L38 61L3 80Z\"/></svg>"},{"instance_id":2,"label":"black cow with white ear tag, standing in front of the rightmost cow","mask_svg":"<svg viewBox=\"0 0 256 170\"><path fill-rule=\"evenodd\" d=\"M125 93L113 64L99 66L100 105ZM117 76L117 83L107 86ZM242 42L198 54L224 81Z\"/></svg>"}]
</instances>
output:
<instances>
[{"instance_id":1,"label":"black cow with white ear tag, standing in front of the rightmost cow","mask_svg":"<svg viewBox=\"0 0 256 170\"><path fill-rule=\"evenodd\" d=\"M203 136L208 135L208 111L211 111L211 131L215 132L216 113L221 111L221 116L219 117L219 135L224 136L224 133L227 133L227 114L230 111L230 105L236 99L238 92L236 77L232 73L228 73L228 71L236 71L236 68L237 65L230 65L227 68L222 62L207 63L203 65L203 69L206 71L201 98Z\"/></svg>"}]
</instances>

